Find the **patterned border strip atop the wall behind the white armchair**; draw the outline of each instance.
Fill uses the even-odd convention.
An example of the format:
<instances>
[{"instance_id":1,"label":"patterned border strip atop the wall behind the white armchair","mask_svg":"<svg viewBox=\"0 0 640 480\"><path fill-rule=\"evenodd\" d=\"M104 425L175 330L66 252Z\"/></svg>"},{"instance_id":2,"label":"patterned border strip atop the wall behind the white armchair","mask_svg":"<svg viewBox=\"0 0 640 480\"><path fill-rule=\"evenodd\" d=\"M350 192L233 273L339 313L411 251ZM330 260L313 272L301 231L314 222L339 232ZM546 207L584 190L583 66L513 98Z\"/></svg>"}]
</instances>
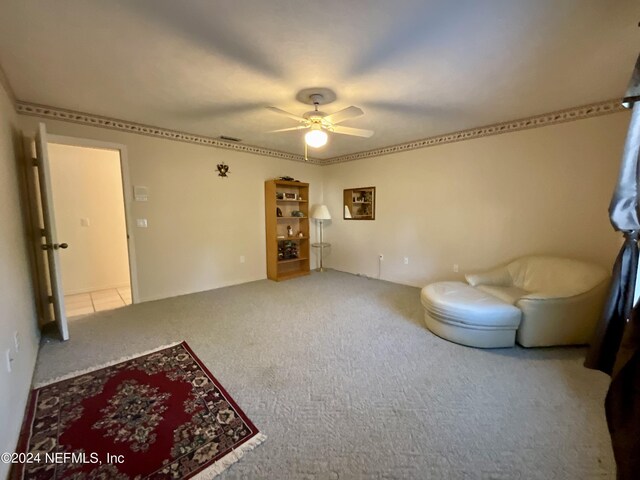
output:
<instances>
[{"instance_id":1,"label":"patterned border strip atop the wall behind the white armchair","mask_svg":"<svg viewBox=\"0 0 640 480\"><path fill-rule=\"evenodd\" d=\"M556 112L545 113L542 115L534 115L510 122L494 123L484 127L471 128L468 130L460 130L459 132L446 133L444 135L436 135L421 140L414 140L407 143L399 143L389 147L367 150L365 152L350 153L339 157L328 158L322 162L323 165L353 162L363 158L379 157L392 153L406 152L408 150L416 150L418 148L435 147L436 145L444 145L446 143L461 142L463 140L471 140L474 138L488 137L491 135L500 135L502 133L517 132L519 130L528 130L530 128L545 127L556 123L572 122L583 118L598 117L600 115L608 115L626 110L622 106L622 99L607 100L599 103L592 103L580 107L558 110Z\"/></svg>"}]
</instances>

